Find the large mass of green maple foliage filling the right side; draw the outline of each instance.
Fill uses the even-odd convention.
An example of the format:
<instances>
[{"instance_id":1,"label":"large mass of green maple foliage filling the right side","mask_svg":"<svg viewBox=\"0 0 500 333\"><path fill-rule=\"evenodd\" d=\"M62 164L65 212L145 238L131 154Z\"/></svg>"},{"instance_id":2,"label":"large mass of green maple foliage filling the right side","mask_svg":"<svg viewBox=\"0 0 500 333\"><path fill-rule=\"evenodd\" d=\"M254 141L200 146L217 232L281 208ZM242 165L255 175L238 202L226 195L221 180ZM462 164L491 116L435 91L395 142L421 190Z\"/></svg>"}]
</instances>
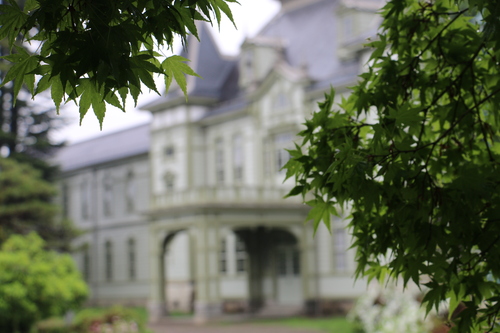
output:
<instances>
[{"instance_id":1,"label":"large mass of green maple foliage filling the right side","mask_svg":"<svg viewBox=\"0 0 500 333\"><path fill-rule=\"evenodd\" d=\"M449 302L454 330L500 332L500 3L382 14L352 94L305 123L291 193L312 193L316 225L325 203L350 209L357 276L412 280L428 311Z\"/></svg>"}]
</instances>

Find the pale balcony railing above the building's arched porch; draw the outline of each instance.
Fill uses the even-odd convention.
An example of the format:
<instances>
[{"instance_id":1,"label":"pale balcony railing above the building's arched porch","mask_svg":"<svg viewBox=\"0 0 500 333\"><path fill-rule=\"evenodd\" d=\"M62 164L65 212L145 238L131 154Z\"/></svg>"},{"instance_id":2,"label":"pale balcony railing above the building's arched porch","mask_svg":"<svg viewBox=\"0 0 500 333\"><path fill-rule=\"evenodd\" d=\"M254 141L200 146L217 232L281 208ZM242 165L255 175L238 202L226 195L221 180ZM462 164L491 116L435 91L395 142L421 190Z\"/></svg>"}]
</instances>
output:
<instances>
[{"instance_id":1,"label":"pale balcony railing above the building's arched porch","mask_svg":"<svg viewBox=\"0 0 500 333\"><path fill-rule=\"evenodd\" d=\"M300 204L300 196L284 199L290 188L199 187L153 196L153 208L194 205Z\"/></svg>"}]
</instances>

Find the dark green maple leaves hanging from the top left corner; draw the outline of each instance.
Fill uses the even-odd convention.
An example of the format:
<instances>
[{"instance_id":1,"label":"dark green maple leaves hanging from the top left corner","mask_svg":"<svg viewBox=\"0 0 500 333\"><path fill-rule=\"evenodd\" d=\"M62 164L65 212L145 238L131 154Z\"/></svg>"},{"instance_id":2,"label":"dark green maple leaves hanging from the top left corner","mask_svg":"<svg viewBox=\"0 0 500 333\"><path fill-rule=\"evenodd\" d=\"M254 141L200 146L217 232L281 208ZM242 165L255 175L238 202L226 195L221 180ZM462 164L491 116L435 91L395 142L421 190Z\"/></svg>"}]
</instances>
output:
<instances>
[{"instance_id":1,"label":"dark green maple leaves hanging from the top left corner","mask_svg":"<svg viewBox=\"0 0 500 333\"><path fill-rule=\"evenodd\" d=\"M0 86L14 81L14 99L22 84L33 95L51 88L59 109L63 101L79 102L80 118L90 107L101 122L106 104L125 111L130 94L137 102L141 86L156 91L154 75L175 78L186 95L185 74L197 75L174 56L161 61L161 47L172 47L175 35L185 43L197 35L195 22L222 15L233 20L228 3L236 0L15 0L0 5L0 39L16 53ZM27 52L21 38L36 47ZM14 80L15 79L15 80Z\"/></svg>"}]
</instances>

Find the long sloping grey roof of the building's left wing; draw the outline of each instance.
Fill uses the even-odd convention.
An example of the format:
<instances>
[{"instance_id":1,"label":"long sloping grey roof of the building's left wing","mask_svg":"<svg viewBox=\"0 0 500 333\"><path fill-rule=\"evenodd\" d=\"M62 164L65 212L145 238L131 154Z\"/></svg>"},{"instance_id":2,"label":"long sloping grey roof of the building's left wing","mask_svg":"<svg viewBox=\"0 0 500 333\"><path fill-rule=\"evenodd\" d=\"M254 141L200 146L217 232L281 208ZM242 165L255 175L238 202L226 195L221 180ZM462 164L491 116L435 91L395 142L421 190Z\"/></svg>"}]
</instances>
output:
<instances>
[{"instance_id":1,"label":"long sloping grey roof of the building's left wing","mask_svg":"<svg viewBox=\"0 0 500 333\"><path fill-rule=\"evenodd\" d=\"M63 147L53 162L62 171L71 171L145 154L149 149L149 124L145 124Z\"/></svg>"}]
</instances>

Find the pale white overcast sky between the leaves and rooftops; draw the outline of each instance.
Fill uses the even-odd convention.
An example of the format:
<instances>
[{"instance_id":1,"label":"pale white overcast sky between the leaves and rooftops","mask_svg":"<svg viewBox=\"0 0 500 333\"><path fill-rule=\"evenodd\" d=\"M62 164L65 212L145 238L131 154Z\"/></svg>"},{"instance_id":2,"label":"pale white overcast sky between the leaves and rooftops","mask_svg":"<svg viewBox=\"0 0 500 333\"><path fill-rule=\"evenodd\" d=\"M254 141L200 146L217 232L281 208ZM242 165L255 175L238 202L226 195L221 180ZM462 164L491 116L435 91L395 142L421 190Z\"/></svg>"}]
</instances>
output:
<instances>
[{"instance_id":1,"label":"pale white overcast sky between the leaves and rooftops","mask_svg":"<svg viewBox=\"0 0 500 333\"><path fill-rule=\"evenodd\" d=\"M227 55L237 54L244 39L255 36L280 9L278 0L239 0L239 3L239 5L230 4L238 29L235 29L228 19L221 22L220 31L218 27L212 29L221 52ZM176 52L180 52L180 45ZM164 87L158 90L164 91ZM99 129L99 122L92 110L88 111L80 126L78 124L78 107L71 102L60 111L60 116L68 119L68 125L55 131L53 138L57 142L65 141L71 144L144 124L151 119L151 114L147 111L141 111L139 108L157 97L156 93L145 90L144 94L139 97L137 108L134 108L133 100L130 100L127 102L127 112L125 113L108 106L102 131Z\"/></svg>"}]
</instances>

